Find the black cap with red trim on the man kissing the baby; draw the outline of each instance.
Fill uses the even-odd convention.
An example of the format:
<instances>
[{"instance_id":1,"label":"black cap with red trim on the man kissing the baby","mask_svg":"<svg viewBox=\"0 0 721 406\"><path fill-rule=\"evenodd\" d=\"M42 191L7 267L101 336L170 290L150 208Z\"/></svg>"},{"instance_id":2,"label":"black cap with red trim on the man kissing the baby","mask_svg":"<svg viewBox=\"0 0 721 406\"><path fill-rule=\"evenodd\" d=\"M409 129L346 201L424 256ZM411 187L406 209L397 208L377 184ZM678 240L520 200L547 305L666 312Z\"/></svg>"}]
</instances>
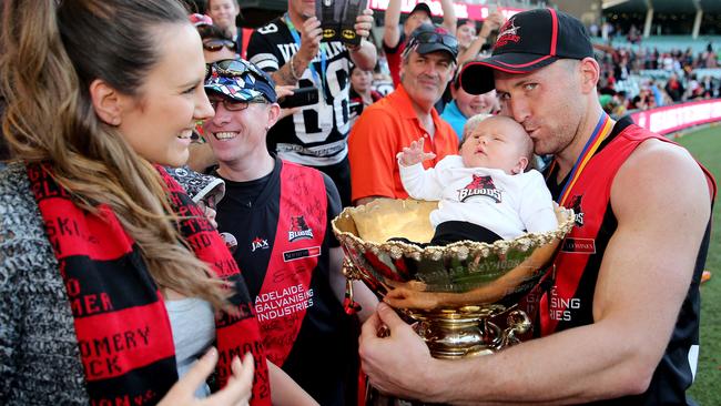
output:
<instances>
[{"instance_id":1,"label":"black cap with red trim on the man kissing the baby","mask_svg":"<svg viewBox=\"0 0 721 406\"><path fill-rule=\"evenodd\" d=\"M583 24L554 9L535 9L512 16L498 31L490 58L471 62L460 72L460 87L470 94L495 88L494 70L529 73L559 59L593 57Z\"/></svg>"}]
</instances>

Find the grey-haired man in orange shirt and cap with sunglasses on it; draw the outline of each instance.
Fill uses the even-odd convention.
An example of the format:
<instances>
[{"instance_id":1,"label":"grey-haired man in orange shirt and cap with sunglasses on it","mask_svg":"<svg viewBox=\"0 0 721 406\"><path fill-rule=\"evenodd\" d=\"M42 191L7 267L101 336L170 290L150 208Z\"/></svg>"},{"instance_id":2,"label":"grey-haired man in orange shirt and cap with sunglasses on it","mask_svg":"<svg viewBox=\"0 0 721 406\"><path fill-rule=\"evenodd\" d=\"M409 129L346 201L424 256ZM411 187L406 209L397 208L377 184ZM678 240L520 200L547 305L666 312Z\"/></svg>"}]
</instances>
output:
<instances>
[{"instance_id":1,"label":"grey-haired man in orange shirt and cap with sunglasses on it","mask_svg":"<svg viewBox=\"0 0 721 406\"><path fill-rule=\"evenodd\" d=\"M434 104L453 79L458 41L443 28L418 28L403 53L400 85L366 109L348 139L353 202L377 197L406 199L396 154L413 141L424 139L424 149L435 154L424 168L435 166L448 154L458 153L458 138L438 115Z\"/></svg>"}]
</instances>

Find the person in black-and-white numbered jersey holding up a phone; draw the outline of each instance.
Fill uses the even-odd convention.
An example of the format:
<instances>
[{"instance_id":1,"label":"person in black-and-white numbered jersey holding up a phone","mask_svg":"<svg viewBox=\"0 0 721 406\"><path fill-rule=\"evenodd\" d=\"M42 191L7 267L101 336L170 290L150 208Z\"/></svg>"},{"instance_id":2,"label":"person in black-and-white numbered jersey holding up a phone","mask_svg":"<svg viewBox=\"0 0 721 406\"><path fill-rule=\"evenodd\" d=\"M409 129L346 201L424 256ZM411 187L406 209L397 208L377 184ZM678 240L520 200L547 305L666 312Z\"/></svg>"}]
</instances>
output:
<instances>
[{"instance_id":1,"label":"person in black-and-white numbered jersey holding up a phone","mask_svg":"<svg viewBox=\"0 0 721 406\"><path fill-rule=\"evenodd\" d=\"M316 0L322 1L322 0ZM248 60L271 72L277 84L315 88L317 102L285 118L268 133L268 149L280 158L325 172L338 187L344 205L351 202L347 136L351 62L372 70L376 48L368 42L373 12L356 18L358 45L321 42L315 1L288 0L288 12L253 32Z\"/></svg>"}]
</instances>

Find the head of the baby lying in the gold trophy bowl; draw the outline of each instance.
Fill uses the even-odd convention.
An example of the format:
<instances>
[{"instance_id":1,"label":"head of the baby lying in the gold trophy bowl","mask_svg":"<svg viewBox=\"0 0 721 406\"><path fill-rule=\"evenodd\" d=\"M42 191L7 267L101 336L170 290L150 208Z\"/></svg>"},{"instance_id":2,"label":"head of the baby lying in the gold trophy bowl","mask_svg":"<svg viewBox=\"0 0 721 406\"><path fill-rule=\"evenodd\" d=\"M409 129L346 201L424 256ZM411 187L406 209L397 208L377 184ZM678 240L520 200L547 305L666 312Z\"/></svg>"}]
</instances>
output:
<instances>
[{"instance_id":1,"label":"head of the baby lying in the gold trophy bowl","mask_svg":"<svg viewBox=\"0 0 721 406\"><path fill-rule=\"evenodd\" d=\"M528 164L524 129L508 118L484 120L460 148L466 168L499 169L508 174L521 173Z\"/></svg>"}]
</instances>

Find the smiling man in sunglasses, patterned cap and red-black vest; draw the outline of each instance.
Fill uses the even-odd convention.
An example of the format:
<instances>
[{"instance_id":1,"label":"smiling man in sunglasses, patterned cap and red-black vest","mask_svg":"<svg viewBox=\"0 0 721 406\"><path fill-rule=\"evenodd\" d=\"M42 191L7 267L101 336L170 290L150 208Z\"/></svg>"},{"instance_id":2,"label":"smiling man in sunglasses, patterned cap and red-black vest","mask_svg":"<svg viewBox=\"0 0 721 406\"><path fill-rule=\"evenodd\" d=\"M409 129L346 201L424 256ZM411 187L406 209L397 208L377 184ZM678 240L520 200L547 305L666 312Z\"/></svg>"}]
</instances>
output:
<instances>
[{"instance_id":1,"label":"smiling man in sunglasses, patterned cap and red-black vest","mask_svg":"<svg viewBox=\"0 0 721 406\"><path fill-rule=\"evenodd\" d=\"M338 192L322 172L268 153L265 138L281 109L265 72L243 60L220 61L210 65L205 91L215 109L205 138L226 187L216 205L219 231L236 237L233 256L268 359L319 404L352 404L358 326L342 306L343 251L331 229ZM359 283L354 293L367 298L360 301L367 317L375 296Z\"/></svg>"}]
</instances>

